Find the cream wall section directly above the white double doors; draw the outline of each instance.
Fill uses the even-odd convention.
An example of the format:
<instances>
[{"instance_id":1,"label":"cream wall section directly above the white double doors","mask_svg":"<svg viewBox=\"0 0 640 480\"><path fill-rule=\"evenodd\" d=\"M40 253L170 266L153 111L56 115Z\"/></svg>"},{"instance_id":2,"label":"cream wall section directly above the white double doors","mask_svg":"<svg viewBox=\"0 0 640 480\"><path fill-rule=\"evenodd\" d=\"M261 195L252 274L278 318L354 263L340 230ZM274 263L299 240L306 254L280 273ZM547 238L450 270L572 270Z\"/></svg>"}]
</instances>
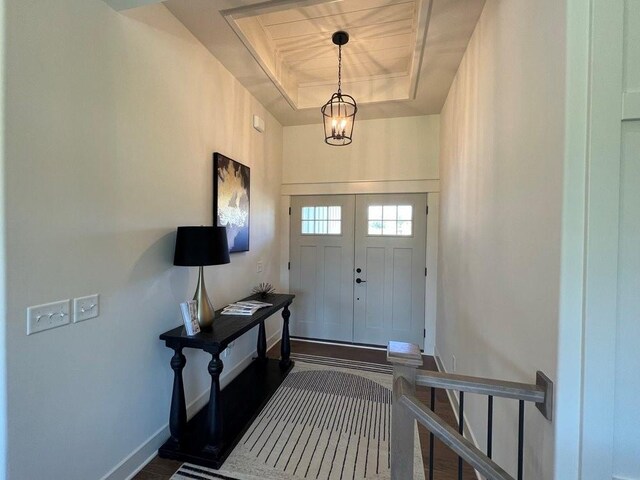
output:
<instances>
[{"instance_id":1,"label":"cream wall section directly above the white double doors","mask_svg":"<svg viewBox=\"0 0 640 480\"><path fill-rule=\"evenodd\" d=\"M439 115L356 119L346 147L327 145L321 124L285 127L282 182L437 180L439 123Z\"/></svg>"}]
</instances>

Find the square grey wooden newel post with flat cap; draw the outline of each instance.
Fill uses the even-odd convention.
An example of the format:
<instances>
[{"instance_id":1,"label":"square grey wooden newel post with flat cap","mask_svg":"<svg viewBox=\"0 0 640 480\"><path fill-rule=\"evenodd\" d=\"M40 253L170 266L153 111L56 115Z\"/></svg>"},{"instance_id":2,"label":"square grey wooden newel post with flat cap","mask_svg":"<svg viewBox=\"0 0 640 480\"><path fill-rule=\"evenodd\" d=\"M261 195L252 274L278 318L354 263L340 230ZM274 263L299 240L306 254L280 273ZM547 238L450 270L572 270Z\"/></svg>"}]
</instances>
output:
<instances>
[{"instance_id":1,"label":"square grey wooden newel post with flat cap","mask_svg":"<svg viewBox=\"0 0 640 480\"><path fill-rule=\"evenodd\" d=\"M393 403L391 410L391 480L413 478L415 420L400 404L398 379L410 385L408 393L415 393L416 370L422 366L420 347L412 343L389 342L387 361L393 365Z\"/></svg>"}]
</instances>

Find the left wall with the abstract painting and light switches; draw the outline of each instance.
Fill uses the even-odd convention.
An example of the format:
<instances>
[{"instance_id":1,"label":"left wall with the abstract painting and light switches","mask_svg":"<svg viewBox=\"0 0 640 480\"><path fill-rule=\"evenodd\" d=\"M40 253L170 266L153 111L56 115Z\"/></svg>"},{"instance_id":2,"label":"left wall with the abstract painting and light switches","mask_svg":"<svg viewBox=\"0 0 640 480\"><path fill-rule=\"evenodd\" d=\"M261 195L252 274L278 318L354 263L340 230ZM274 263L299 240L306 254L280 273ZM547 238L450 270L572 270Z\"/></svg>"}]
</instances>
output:
<instances>
[{"instance_id":1,"label":"left wall with the abstract painting and light switches","mask_svg":"<svg viewBox=\"0 0 640 480\"><path fill-rule=\"evenodd\" d=\"M213 303L277 284L282 129L161 5L5 4L8 474L97 479L142 446L111 476L124 478L167 435L158 335L197 273L172 266L174 232L211 224L214 151L251 167L252 222L251 252L205 270ZM96 292L99 318L26 336L29 305ZM236 342L223 376L255 339ZM209 358L186 354L190 403Z\"/></svg>"}]
</instances>

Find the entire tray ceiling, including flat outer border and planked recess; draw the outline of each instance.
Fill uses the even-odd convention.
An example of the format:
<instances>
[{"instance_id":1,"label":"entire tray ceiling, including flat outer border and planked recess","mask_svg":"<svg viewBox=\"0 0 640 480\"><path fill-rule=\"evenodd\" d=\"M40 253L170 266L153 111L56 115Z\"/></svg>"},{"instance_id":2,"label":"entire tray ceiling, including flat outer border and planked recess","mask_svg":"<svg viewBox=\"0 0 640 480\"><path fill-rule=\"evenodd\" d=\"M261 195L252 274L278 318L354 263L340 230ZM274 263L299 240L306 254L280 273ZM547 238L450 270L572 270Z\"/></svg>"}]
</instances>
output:
<instances>
[{"instance_id":1,"label":"entire tray ceiling, including flat outer border and planked recess","mask_svg":"<svg viewBox=\"0 0 640 480\"><path fill-rule=\"evenodd\" d=\"M283 125L318 123L337 87L359 118L439 113L484 0L168 0Z\"/></svg>"}]
</instances>

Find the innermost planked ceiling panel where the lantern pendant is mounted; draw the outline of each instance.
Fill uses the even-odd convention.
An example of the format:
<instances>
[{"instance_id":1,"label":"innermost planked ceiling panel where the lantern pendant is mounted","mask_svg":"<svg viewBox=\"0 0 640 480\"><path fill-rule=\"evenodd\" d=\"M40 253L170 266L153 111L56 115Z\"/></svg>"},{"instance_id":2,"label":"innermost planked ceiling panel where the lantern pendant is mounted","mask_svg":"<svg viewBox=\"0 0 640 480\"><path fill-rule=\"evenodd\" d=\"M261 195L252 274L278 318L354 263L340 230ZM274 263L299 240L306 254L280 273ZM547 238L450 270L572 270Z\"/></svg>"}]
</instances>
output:
<instances>
[{"instance_id":1,"label":"innermost planked ceiling panel where the lantern pendant is mounted","mask_svg":"<svg viewBox=\"0 0 640 480\"><path fill-rule=\"evenodd\" d=\"M408 75L417 12L415 0L349 0L269 13L258 20L300 83L335 82L337 48L331 34L340 29L351 36L344 47L347 79Z\"/></svg>"}]
</instances>

